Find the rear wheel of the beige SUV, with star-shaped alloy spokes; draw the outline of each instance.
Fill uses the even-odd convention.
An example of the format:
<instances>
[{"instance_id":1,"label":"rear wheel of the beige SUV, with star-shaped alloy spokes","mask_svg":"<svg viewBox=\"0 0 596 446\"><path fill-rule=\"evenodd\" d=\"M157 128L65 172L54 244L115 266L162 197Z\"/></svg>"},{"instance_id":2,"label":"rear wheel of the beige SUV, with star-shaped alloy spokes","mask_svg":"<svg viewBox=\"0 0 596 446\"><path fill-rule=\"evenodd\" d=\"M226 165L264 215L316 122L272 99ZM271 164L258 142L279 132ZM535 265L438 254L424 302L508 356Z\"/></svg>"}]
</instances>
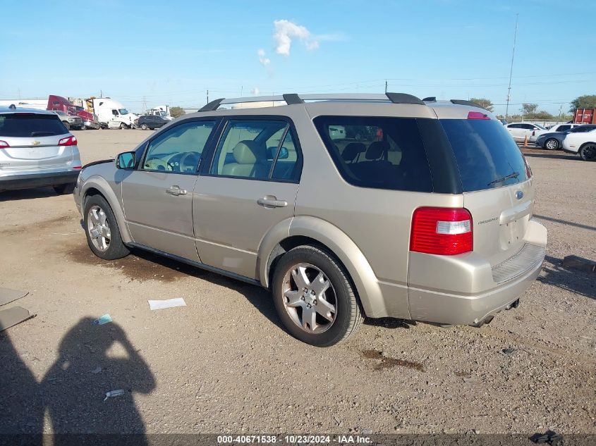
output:
<instances>
[{"instance_id":1,"label":"rear wheel of the beige SUV, with star-shaped alloy spokes","mask_svg":"<svg viewBox=\"0 0 596 446\"><path fill-rule=\"evenodd\" d=\"M348 272L318 247L300 246L286 252L275 268L272 291L286 330L307 344L335 345L362 324Z\"/></svg>"}]
</instances>

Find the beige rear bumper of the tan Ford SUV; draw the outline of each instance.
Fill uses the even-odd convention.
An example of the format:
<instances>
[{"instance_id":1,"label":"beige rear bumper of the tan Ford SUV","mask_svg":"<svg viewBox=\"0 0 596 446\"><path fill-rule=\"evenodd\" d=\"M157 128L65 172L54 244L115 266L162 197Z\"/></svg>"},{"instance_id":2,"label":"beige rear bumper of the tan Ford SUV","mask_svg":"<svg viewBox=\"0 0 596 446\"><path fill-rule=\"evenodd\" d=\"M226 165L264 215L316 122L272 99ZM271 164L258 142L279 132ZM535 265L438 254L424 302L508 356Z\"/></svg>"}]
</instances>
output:
<instances>
[{"instance_id":1,"label":"beige rear bumper of the tan Ford SUV","mask_svg":"<svg viewBox=\"0 0 596 446\"><path fill-rule=\"evenodd\" d=\"M425 281L433 285L432 288L416 285L408 287L410 318L443 324L475 325L511 306L540 274L545 259L547 230L540 223L531 222L533 228L530 240L526 240L523 249L503 264L491 267L478 259L470 260L469 263L463 259L445 265L447 275L451 275L445 281L456 278L451 283L458 283L458 292L451 292L453 288L442 284L441 278L446 276L438 271L432 275L427 268L422 273L410 274L410 278L418 276L415 278L417 283L426 278ZM410 257L411 268L423 264L427 262ZM456 269L460 269L459 273ZM464 288L470 292L462 292Z\"/></svg>"}]
</instances>

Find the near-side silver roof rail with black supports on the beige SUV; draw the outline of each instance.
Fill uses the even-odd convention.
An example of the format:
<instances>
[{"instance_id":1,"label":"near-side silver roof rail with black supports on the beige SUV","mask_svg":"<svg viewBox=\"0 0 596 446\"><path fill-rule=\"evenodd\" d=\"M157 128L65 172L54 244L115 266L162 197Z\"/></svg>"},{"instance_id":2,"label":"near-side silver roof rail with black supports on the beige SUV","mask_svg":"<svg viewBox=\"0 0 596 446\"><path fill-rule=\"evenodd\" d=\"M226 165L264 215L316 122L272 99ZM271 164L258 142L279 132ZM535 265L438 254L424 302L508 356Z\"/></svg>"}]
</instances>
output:
<instances>
[{"instance_id":1,"label":"near-side silver roof rail with black supports on the beige SUV","mask_svg":"<svg viewBox=\"0 0 596 446\"><path fill-rule=\"evenodd\" d=\"M230 99L215 99L209 104L202 106L199 111L216 111L219 106L226 104L241 104L243 102L279 102L284 101L288 105L304 104L305 101L391 101L393 104L418 104L425 105L418 97L406 93L391 93L385 94L296 94L286 93L277 96L251 96L251 97L237 97Z\"/></svg>"}]
</instances>

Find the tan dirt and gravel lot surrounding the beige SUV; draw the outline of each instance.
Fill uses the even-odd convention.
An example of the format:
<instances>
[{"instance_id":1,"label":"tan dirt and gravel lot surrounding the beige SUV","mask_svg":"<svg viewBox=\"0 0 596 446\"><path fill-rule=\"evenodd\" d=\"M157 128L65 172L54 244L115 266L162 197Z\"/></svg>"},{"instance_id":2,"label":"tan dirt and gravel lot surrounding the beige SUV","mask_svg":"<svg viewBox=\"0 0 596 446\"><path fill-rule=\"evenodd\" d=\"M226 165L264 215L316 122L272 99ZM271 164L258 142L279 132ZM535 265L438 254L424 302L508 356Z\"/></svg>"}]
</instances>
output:
<instances>
[{"instance_id":1,"label":"tan dirt and gravel lot surrounding the beige SUV","mask_svg":"<svg viewBox=\"0 0 596 446\"><path fill-rule=\"evenodd\" d=\"M86 163L150 133L76 135ZM596 163L525 152L549 246L521 306L482 328L368 320L329 349L286 334L259 287L98 259L69 195L0 192L0 286L37 314L0 333L0 432L596 433L596 274L561 265L596 259ZM172 297L188 306L147 305Z\"/></svg>"}]
</instances>

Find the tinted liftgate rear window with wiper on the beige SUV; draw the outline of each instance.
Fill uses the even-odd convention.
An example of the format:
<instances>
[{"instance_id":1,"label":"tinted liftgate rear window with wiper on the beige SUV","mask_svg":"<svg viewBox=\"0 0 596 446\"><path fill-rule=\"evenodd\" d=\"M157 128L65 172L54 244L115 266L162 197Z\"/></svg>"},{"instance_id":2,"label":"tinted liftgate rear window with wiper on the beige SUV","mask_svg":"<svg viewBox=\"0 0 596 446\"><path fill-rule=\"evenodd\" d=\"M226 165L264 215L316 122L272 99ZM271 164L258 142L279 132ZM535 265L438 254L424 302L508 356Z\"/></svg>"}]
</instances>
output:
<instances>
[{"instance_id":1,"label":"tinted liftgate rear window with wiper on the beige SUV","mask_svg":"<svg viewBox=\"0 0 596 446\"><path fill-rule=\"evenodd\" d=\"M453 148L463 192L513 185L528 179L517 144L496 120L441 120Z\"/></svg>"}]
</instances>

